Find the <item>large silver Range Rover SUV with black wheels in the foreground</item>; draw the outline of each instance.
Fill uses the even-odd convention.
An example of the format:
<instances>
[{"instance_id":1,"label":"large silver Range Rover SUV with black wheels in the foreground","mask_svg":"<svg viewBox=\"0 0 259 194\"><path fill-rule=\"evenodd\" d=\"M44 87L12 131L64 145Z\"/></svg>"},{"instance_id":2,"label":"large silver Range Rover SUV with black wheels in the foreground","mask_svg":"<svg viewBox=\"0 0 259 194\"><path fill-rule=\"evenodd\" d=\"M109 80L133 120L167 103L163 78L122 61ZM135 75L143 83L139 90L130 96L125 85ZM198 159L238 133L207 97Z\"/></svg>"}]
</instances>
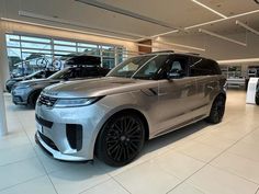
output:
<instances>
[{"instance_id":1,"label":"large silver Range Rover SUV with black wheels in the foreground","mask_svg":"<svg viewBox=\"0 0 259 194\"><path fill-rule=\"evenodd\" d=\"M226 80L216 61L189 54L130 58L104 78L44 89L36 104L36 141L54 158L120 167L145 140L225 111Z\"/></svg>"}]
</instances>

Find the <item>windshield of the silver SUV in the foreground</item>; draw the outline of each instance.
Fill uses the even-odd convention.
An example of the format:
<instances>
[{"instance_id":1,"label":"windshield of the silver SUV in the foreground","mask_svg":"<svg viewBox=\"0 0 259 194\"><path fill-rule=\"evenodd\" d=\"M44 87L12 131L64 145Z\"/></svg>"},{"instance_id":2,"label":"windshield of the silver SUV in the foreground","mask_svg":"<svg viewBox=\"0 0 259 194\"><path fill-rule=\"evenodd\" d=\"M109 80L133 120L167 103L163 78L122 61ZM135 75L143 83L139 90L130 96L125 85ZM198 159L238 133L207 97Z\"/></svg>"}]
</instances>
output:
<instances>
[{"instance_id":1,"label":"windshield of the silver SUV in the foreground","mask_svg":"<svg viewBox=\"0 0 259 194\"><path fill-rule=\"evenodd\" d=\"M133 57L115 67L108 77L154 79L168 55L148 55Z\"/></svg>"}]
</instances>

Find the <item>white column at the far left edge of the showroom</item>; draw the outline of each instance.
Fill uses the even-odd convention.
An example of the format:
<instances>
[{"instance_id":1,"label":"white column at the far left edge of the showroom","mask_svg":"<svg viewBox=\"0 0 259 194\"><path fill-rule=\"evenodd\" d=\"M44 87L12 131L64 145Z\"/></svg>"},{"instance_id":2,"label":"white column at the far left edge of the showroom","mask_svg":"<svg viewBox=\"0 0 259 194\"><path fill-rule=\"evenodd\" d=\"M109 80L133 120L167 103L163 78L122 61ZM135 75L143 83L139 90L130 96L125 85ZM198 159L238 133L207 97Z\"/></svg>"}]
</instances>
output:
<instances>
[{"instance_id":1,"label":"white column at the far left edge of the showroom","mask_svg":"<svg viewBox=\"0 0 259 194\"><path fill-rule=\"evenodd\" d=\"M7 64L8 56L7 56L7 48L5 48L5 41L4 38L4 28L2 23L0 23L0 136L3 136L8 133L7 126L7 116L5 116L5 105L4 105L4 98L3 98L3 85L4 85L4 78L7 77L7 68L4 66L9 66Z\"/></svg>"}]
</instances>

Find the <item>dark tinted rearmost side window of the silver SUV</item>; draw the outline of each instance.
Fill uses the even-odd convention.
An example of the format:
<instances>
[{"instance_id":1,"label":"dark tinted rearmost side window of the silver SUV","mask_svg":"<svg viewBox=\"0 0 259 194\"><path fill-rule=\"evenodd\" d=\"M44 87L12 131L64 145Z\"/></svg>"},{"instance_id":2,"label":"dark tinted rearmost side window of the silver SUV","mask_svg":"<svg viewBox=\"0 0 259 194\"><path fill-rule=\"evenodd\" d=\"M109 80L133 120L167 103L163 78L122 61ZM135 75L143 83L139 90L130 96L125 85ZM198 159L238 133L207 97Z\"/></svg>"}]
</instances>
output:
<instances>
[{"instance_id":1,"label":"dark tinted rearmost side window of the silver SUV","mask_svg":"<svg viewBox=\"0 0 259 194\"><path fill-rule=\"evenodd\" d=\"M209 76L209 75L221 75L218 65L211 60L204 58L194 58L190 65L190 76Z\"/></svg>"}]
</instances>

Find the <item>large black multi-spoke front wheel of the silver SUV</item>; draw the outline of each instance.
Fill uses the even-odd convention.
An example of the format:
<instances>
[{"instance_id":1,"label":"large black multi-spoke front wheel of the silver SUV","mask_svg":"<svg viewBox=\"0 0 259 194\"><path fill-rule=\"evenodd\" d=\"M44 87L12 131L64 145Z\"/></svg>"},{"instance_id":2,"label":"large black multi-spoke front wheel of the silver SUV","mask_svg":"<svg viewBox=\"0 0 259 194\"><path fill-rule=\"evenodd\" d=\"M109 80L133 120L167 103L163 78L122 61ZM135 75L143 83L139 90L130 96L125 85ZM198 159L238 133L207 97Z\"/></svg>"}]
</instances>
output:
<instances>
[{"instance_id":1,"label":"large black multi-spoke front wheel of the silver SUV","mask_svg":"<svg viewBox=\"0 0 259 194\"><path fill-rule=\"evenodd\" d=\"M104 163L122 167L132 162L145 142L145 125L133 113L115 114L102 127L95 153Z\"/></svg>"}]
</instances>

